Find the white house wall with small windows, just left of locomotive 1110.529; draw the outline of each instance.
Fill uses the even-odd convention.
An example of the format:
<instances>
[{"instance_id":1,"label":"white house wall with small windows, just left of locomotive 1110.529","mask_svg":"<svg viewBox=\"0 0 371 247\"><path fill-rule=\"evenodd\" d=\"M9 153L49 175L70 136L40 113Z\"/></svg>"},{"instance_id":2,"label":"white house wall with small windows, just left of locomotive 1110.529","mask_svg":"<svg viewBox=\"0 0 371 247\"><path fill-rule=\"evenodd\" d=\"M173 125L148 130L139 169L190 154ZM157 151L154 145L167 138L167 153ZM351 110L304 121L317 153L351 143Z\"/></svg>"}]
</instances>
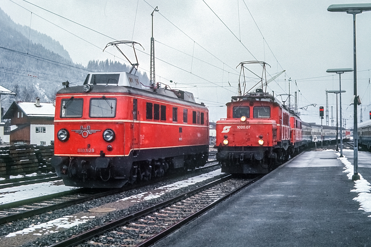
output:
<instances>
[{"instance_id":1,"label":"white house wall with small windows, just left of locomotive 1110.529","mask_svg":"<svg viewBox=\"0 0 371 247\"><path fill-rule=\"evenodd\" d=\"M54 140L53 124L31 124L30 132L30 144L48 146Z\"/></svg>"}]
</instances>

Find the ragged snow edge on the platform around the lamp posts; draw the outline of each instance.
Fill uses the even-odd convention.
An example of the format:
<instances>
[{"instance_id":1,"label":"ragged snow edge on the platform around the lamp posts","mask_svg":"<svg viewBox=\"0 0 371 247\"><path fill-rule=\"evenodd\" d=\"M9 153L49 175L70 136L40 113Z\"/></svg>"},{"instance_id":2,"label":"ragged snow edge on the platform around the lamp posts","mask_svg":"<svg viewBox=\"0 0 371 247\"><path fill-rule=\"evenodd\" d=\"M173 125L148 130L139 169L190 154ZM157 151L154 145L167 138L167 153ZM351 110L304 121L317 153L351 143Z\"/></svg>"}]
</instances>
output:
<instances>
[{"instance_id":1,"label":"ragged snow edge on the platform around the lamp posts","mask_svg":"<svg viewBox=\"0 0 371 247\"><path fill-rule=\"evenodd\" d=\"M353 153L353 150L350 150ZM335 153L340 156L340 153ZM347 173L349 179L352 179L354 174L354 166L348 161L348 158L343 153L342 158L338 158L345 165L344 173ZM360 207L358 210L364 210L366 213L371 213L371 184L358 173L361 179L354 181L354 188L351 192L357 192L358 196L353 198L353 200L358 201ZM367 216L371 217L371 215Z\"/></svg>"}]
</instances>

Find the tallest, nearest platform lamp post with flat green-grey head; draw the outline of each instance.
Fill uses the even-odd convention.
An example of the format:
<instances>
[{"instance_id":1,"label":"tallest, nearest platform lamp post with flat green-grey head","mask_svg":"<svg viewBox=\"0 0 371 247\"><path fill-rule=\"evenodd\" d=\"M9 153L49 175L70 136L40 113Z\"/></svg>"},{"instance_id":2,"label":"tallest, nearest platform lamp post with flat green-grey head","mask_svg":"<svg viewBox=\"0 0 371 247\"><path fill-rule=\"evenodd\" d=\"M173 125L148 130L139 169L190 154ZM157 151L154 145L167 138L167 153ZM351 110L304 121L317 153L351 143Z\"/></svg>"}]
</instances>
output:
<instances>
[{"instance_id":1,"label":"tallest, nearest platform lamp post with flat green-grey head","mask_svg":"<svg viewBox=\"0 0 371 247\"><path fill-rule=\"evenodd\" d=\"M371 3L347 3L347 4L331 4L327 8L331 12L346 12L353 15L353 63L354 63L354 126L353 126L353 138L354 138L354 174L352 180L359 180L358 175L358 127L357 127L357 56L355 49L355 15L360 14L363 11L371 11Z\"/></svg>"}]
</instances>

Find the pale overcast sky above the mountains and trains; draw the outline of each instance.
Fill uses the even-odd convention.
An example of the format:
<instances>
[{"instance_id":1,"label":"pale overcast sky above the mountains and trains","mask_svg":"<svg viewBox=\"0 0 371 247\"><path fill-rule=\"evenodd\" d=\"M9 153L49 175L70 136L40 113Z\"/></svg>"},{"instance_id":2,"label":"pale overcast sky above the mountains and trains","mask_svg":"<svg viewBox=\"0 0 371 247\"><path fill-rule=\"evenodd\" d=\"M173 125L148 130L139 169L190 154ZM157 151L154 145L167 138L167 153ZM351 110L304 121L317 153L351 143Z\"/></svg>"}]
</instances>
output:
<instances>
[{"instance_id":1,"label":"pale overcast sky above the mountains and trains","mask_svg":"<svg viewBox=\"0 0 371 247\"><path fill-rule=\"evenodd\" d=\"M151 12L158 6L160 11L154 13L156 81L191 91L198 102L209 106L210 121L226 117L225 103L237 94L240 69L236 67L242 61L266 61L271 66L267 66L267 80L286 70L268 84L268 91L275 91L275 95L288 93L291 78L290 93L297 91L299 107L316 104L316 107L299 110L302 120L317 123L321 123L319 106L326 103L325 90L339 89L339 76L326 70L353 67L352 15L328 12L329 5L342 3L333 0L28 0L96 32L26 1L12 1L1 0L0 7L16 23L29 26L32 11L86 40L32 16L32 29L59 41L72 60L84 66L92 59L124 62L124 57L113 47L106 51L115 57L102 52L112 39L141 43L144 52L136 46L139 70L147 71L148 75ZM347 3L360 2L348 0ZM371 110L370 24L371 12L357 15L358 94L362 108L366 108L364 120L369 118ZM130 47L122 47L122 50L129 59L135 60ZM259 66L248 68L258 75L262 73ZM253 74L246 76L254 77ZM250 89L257 81L249 79L246 88ZM349 104L353 96L353 73L342 75L342 89L347 90L342 94L343 116L347 127L351 127L353 107ZM293 101L292 97L292 104ZM335 120L336 97L333 95L329 95L330 125L331 106L334 106ZM359 119L360 107L358 109Z\"/></svg>"}]
</instances>

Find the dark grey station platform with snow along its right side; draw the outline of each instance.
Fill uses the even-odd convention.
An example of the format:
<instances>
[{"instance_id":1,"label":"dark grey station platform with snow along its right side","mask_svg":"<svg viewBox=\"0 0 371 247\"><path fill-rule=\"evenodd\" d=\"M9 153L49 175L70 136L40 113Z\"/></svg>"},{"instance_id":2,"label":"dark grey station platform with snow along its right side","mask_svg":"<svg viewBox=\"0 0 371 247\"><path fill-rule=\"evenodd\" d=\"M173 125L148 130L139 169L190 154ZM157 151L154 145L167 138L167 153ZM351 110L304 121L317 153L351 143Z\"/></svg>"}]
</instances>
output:
<instances>
[{"instance_id":1,"label":"dark grey station platform with snow along its right side","mask_svg":"<svg viewBox=\"0 0 371 247\"><path fill-rule=\"evenodd\" d=\"M371 246L371 153L359 152L357 183L337 157L302 153L155 246Z\"/></svg>"}]
</instances>

